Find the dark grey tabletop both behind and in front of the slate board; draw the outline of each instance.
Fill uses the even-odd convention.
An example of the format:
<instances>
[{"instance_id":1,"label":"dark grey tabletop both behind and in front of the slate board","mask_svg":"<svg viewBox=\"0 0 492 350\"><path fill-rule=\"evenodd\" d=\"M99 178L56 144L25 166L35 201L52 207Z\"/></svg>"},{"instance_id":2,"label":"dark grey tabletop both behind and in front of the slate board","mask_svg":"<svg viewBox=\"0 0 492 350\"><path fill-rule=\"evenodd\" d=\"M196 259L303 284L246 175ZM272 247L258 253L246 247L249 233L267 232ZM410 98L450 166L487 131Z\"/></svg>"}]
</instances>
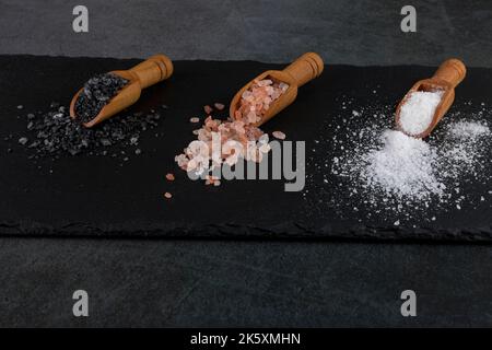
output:
<instances>
[{"instance_id":1,"label":"dark grey tabletop both behind and in front of the slate board","mask_svg":"<svg viewBox=\"0 0 492 350\"><path fill-rule=\"evenodd\" d=\"M490 1L0 1L0 52L492 67ZM94 9L94 10L91 10ZM151 21L148 21L151 19ZM421 20L420 20L421 19ZM272 23L273 22L273 23ZM273 25L272 25L273 24ZM263 35L263 36L262 36ZM489 245L0 238L1 326L491 326ZM71 315L85 289L91 316ZM399 294L419 295L417 318Z\"/></svg>"}]
</instances>

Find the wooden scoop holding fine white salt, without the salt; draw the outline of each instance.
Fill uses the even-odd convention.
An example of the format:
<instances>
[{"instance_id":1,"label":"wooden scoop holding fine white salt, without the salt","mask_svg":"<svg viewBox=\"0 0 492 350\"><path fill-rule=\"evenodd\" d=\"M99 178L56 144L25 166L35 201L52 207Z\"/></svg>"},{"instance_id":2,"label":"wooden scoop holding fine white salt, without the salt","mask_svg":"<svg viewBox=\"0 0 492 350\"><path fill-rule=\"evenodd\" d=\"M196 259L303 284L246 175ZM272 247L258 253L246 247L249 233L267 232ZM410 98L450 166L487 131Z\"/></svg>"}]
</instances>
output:
<instances>
[{"instance_id":1,"label":"wooden scoop holding fine white salt, without the salt","mask_svg":"<svg viewBox=\"0 0 492 350\"><path fill-rule=\"evenodd\" d=\"M432 130L437 126L441 119L444 117L446 112L452 106L455 101L455 88L465 79L467 73L467 69L465 65L456 58L448 59L444 61L437 71L434 73L434 77L430 79L424 79L418 81L412 89L405 95L403 100L399 103L395 119L397 128L407 133L400 125L400 110L407 100L410 97L410 94L415 91L426 91L426 92L435 92L442 91L443 95L441 97L441 102L435 108L434 117L432 119L431 125L423 132L419 135L408 135L418 139L422 139L427 137Z\"/></svg>"}]
</instances>

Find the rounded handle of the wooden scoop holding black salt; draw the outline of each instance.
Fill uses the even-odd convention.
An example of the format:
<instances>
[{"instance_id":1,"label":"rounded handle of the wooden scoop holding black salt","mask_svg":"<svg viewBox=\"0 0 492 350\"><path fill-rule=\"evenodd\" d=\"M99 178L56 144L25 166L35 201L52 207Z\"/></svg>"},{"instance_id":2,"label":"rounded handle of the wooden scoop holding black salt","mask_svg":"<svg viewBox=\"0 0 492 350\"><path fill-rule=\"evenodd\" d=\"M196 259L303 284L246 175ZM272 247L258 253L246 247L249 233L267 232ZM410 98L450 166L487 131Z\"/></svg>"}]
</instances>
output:
<instances>
[{"instance_id":1,"label":"rounded handle of the wooden scoop holding black salt","mask_svg":"<svg viewBox=\"0 0 492 350\"><path fill-rule=\"evenodd\" d=\"M142 89L151 86L173 74L173 62L167 56L155 55L130 69L140 80Z\"/></svg>"}]
</instances>

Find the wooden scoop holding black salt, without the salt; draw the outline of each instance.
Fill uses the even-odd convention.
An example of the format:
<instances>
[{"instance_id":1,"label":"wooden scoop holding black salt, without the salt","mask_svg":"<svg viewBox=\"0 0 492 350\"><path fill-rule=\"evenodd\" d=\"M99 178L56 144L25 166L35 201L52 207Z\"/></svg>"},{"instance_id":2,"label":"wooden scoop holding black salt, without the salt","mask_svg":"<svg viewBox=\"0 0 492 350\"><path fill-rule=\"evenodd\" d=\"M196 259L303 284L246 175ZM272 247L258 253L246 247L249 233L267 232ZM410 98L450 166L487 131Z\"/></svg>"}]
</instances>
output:
<instances>
[{"instance_id":1,"label":"wooden scoop holding black salt, without the salt","mask_svg":"<svg viewBox=\"0 0 492 350\"><path fill-rule=\"evenodd\" d=\"M125 78L129 82L101 109L94 119L83 124L87 128L131 106L140 98L143 89L169 78L173 74L173 62L164 55L155 55L129 70L115 70L112 73ZM82 90L83 88L77 92L70 103L70 116L72 118L77 118L75 101Z\"/></svg>"}]
</instances>

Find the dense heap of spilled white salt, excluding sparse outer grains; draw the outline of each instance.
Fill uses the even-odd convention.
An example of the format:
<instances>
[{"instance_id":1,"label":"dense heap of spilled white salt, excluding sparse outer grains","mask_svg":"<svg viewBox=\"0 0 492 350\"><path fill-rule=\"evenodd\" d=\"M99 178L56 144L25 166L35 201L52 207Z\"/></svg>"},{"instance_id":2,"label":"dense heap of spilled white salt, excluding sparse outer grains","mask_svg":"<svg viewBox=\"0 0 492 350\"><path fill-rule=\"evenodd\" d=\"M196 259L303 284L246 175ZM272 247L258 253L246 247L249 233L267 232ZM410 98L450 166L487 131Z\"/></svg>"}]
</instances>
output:
<instances>
[{"instance_id":1,"label":"dense heap of spilled white salt, excluding sparse outer grains","mask_svg":"<svg viewBox=\"0 0 492 350\"><path fill-rule=\"evenodd\" d=\"M374 131L375 143L347 154L353 162L342 164L368 191L399 201L448 197L447 185L459 192L464 175L476 172L490 150L482 142L491 131L478 121L450 122L438 143L430 143L400 131ZM447 184L447 185L446 185Z\"/></svg>"}]
</instances>

